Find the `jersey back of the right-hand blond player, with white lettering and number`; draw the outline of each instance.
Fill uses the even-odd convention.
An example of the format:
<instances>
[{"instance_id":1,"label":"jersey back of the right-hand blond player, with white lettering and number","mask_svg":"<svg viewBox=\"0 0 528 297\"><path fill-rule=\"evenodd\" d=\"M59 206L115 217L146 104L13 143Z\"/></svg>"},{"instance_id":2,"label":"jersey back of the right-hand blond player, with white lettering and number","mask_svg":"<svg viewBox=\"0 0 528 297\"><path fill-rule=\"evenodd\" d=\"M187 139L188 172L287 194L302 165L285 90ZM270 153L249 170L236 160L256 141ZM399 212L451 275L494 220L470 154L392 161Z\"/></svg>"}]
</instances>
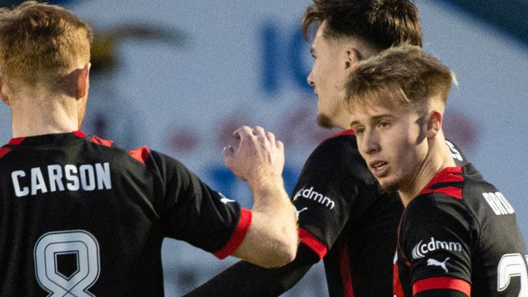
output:
<instances>
[{"instance_id":1,"label":"jersey back of the right-hand blond player, with white lettering and number","mask_svg":"<svg viewBox=\"0 0 528 297\"><path fill-rule=\"evenodd\" d=\"M472 210L478 238L472 252L472 296L520 296L528 290L525 241L514 208L471 166L463 167L462 201Z\"/></svg>"}]
</instances>

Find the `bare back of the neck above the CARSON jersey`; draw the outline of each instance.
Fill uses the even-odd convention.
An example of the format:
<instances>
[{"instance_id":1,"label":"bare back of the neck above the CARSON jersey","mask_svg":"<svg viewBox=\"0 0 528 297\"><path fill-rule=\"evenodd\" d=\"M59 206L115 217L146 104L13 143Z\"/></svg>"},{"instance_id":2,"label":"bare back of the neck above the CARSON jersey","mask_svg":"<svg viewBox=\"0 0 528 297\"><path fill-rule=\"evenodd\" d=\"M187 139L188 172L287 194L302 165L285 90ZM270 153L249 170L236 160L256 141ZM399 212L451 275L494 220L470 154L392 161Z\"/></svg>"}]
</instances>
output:
<instances>
[{"instance_id":1,"label":"bare back of the neck above the CARSON jersey","mask_svg":"<svg viewBox=\"0 0 528 297\"><path fill-rule=\"evenodd\" d=\"M13 137L67 133L79 129L74 98L31 96L11 102Z\"/></svg>"}]
</instances>

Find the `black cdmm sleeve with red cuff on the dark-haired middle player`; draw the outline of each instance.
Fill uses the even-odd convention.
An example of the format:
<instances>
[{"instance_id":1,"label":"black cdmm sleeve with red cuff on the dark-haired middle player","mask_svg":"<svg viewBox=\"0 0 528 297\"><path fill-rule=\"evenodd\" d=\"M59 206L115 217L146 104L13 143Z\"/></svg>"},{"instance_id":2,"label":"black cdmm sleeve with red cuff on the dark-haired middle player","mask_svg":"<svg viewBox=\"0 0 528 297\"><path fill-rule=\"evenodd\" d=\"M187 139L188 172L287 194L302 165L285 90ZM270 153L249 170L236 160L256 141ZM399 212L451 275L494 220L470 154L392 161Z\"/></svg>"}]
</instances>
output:
<instances>
[{"instance_id":1,"label":"black cdmm sleeve with red cuff on the dark-haired middle player","mask_svg":"<svg viewBox=\"0 0 528 297\"><path fill-rule=\"evenodd\" d=\"M369 206L369 195L357 203L366 184L377 190L355 142L348 136L326 140L310 155L292 193L300 243L327 254L351 217ZM364 200L363 200L364 199Z\"/></svg>"}]
</instances>

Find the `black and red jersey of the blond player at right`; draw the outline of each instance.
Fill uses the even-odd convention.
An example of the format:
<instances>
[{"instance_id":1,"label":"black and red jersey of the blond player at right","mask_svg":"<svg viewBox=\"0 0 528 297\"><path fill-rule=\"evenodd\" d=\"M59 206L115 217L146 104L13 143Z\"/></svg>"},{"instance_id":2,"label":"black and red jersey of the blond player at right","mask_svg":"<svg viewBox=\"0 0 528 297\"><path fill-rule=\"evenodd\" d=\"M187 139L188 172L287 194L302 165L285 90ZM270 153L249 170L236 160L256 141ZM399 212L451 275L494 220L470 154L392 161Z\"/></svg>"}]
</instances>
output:
<instances>
[{"instance_id":1,"label":"black and red jersey of the blond player at right","mask_svg":"<svg viewBox=\"0 0 528 297\"><path fill-rule=\"evenodd\" d=\"M526 296L525 255L504 195L471 164L445 168L404 210L395 296Z\"/></svg>"}]
</instances>

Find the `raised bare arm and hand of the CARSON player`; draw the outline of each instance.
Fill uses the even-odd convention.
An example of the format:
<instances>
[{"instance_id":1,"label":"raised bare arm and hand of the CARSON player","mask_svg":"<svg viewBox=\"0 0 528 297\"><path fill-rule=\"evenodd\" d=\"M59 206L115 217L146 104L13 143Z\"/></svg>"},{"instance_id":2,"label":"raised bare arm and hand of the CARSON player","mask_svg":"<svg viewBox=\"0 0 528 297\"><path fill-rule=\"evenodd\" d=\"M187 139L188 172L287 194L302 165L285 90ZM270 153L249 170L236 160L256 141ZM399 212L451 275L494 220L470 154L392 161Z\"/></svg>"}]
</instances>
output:
<instances>
[{"instance_id":1,"label":"raised bare arm and hand of the CARSON player","mask_svg":"<svg viewBox=\"0 0 528 297\"><path fill-rule=\"evenodd\" d=\"M259 126L242 126L233 135L239 146L224 149L225 164L248 181L254 196L250 229L233 256L263 267L292 262L298 231L282 177L284 145Z\"/></svg>"}]
</instances>

